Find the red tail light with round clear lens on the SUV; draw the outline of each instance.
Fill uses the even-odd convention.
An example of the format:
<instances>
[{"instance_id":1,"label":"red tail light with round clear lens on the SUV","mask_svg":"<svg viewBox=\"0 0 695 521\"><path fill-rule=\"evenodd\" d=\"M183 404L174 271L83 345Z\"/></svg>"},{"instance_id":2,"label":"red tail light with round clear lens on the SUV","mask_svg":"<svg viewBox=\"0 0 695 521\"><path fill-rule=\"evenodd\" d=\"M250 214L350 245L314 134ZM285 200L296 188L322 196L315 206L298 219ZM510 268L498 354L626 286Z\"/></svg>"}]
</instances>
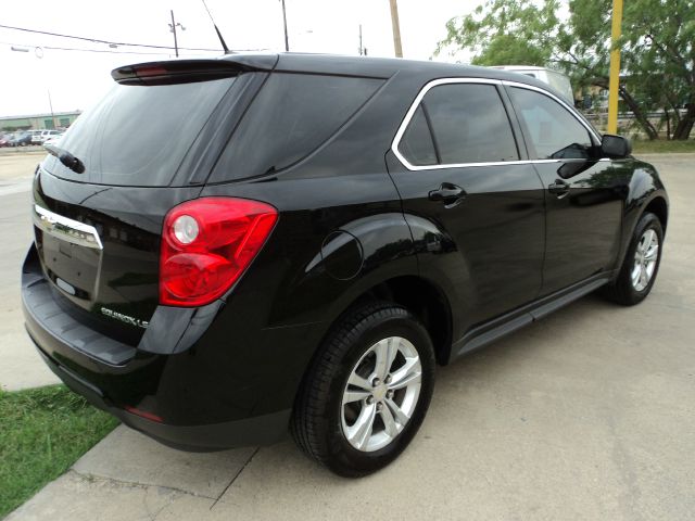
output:
<instances>
[{"instance_id":1,"label":"red tail light with round clear lens on the SUV","mask_svg":"<svg viewBox=\"0 0 695 521\"><path fill-rule=\"evenodd\" d=\"M164 219L160 303L203 306L241 277L273 231L278 213L247 199L201 198Z\"/></svg>"}]
</instances>

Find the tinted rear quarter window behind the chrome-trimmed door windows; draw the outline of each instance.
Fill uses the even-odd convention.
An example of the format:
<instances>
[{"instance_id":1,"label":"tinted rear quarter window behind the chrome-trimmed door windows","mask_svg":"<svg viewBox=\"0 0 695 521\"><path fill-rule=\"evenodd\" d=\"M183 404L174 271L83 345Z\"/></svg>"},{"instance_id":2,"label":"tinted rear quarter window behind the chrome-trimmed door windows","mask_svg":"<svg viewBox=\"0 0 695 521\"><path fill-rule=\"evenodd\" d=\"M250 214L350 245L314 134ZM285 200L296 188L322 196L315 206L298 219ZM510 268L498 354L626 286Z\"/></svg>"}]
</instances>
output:
<instances>
[{"instance_id":1,"label":"tinted rear quarter window behind the chrome-trimmed door windows","mask_svg":"<svg viewBox=\"0 0 695 521\"><path fill-rule=\"evenodd\" d=\"M208 182L287 168L329 139L381 79L274 73L235 130Z\"/></svg>"}]
</instances>

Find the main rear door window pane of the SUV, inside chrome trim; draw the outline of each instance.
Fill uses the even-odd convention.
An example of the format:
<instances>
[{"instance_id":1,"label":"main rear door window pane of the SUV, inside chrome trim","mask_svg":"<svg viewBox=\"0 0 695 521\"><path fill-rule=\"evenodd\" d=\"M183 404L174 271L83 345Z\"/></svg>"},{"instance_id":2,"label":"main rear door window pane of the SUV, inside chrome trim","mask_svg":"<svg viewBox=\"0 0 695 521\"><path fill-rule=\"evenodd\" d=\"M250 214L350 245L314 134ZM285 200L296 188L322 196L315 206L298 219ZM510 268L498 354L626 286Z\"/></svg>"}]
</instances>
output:
<instances>
[{"instance_id":1,"label":"main rear door window pane of the SUV, inside chrome trim","mask_svg":"<svg viewBox=\"0 0 695 521\"><path fill-rule=\"evenodd\" d=\"M451 84L422 99L442 164L518 160L509 118L493 85Z\"/></svg>"}]
</instances>

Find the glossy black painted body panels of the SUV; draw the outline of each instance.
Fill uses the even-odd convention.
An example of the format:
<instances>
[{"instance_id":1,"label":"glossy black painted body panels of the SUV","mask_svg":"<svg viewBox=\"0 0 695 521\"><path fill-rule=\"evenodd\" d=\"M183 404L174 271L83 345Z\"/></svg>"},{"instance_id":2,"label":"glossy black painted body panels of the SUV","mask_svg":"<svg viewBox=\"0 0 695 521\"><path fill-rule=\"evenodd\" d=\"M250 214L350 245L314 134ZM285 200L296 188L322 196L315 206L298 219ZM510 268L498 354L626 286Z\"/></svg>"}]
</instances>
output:
<instances>
[{"instance_id":1,"label":"glossy black painted body panels of the SUV","mask_svg":"<svg viewBox=\"0 0 695 521\"><path fill-rule=\"evenodd\" d=\"M581 294L582 287L609 280L644 208L655 200L667 204L654 168L631 157L596 162L567 179L571 190L563 199L547 190L560 176L557 164L538 170L532 164L447 168L430 176L397 161L391 151L394 135L427 82L462 76L508 79L503 72L302 54L227 60L260 71L248 77L249 102L274 67L275 73L383 78L384 84L327 142L279 173L204 183L211 170L230 167L216 158L243 113L242 104L224 113L223 103L185 160L181 169L192 171L189 186L177 178L166 188L104 187L59 179L43 169L34 183L35 200L47 208L114 229L103 233L104 249L118 254L102 267L108 290L97 305L149 326L115 322L75 306L46 281L33 246L23 275L30 336L66 383L164 443L224 448L277 440L331 325L365 294L381 295L391 281L417 280L417 288L434 295L443 313L440 331L431 334L439 339L439 361L447 364L540 317L553 302ZM545 88L531 78L513 79ZM460 204L446 208L427 198L442 182L466 190ZM208 195L268 202L279 212L276 229L224 298L198 309L160 306L153 295L164 216L180 202ZM571 239L578 242L568 243ZM601 255L591 256L596 249ZM572 282L579 292L564 290ZM28 292L36 284L47 284L63 313L96 339L114 339L132 350L132 357L113 365L91 353L89 344L76 348L61 340L49 319L37 317ZM564 300L554 298L555 290ZM125 407L156 415L162 423Z\"/></svg>"}]
</instances>

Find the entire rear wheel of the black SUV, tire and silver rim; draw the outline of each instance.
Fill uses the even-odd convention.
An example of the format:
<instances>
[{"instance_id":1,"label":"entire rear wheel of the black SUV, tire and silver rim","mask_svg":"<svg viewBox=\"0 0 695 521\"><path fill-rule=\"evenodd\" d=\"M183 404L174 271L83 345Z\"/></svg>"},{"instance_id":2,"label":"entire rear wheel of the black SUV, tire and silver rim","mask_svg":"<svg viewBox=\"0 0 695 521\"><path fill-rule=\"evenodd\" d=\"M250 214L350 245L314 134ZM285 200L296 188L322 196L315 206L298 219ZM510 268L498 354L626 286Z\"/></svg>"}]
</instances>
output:
<instances>
[{"instance_id":1,"label":"entire rear wheel of the black SUV, tire and silver rim","mask_svg":"<svg viewBox=\"0 0 695 521\"><path fill-rule=\"evenodd\" d=\"M418 318L393 303L355 307L315 357L292 417L312 458L341 475L365 475L410 443L434 386L434 350Z\"/></svg>"}]
</instances>

